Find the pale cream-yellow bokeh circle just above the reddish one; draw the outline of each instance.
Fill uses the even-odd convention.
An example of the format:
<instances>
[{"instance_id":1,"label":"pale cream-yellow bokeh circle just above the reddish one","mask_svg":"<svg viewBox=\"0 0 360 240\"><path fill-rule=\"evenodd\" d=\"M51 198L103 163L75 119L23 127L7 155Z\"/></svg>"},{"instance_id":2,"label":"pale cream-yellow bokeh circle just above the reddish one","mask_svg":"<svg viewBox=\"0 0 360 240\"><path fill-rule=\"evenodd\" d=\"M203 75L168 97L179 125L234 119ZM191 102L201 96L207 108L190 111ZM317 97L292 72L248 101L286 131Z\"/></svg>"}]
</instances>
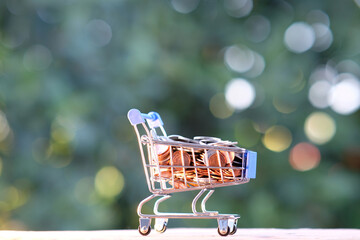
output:
<instances>
[{"instance_id":1,"label":"pale cream-yellow bokeh circle just above the reddish one","mask_svg":"<svg viewBox=\"0 0 360 240\"><path fill-rule=\"evenodd\" d=\"M304 131L313 143L324 144L334 137L336 124L328 114L314 112L306 118Z\"/></svg>"}]
</instances>

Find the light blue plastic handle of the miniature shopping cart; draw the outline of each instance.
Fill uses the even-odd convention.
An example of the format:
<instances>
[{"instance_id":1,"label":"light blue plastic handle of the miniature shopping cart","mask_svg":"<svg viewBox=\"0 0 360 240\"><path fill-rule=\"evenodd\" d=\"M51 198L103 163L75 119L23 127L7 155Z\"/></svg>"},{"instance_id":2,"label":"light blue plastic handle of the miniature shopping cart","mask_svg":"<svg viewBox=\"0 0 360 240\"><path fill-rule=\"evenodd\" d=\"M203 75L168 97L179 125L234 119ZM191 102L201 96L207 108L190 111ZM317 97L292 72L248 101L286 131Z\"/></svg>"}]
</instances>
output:
<instances>
[{"instance_id":1,"label":"light blue plastic handle of the miniature shopping cart","mask_svg":"<svg viewBox=\"0 0 360 240\"><path fill-rule=\"evenodd\" d=\"M145 114L145 113L141 113L139 110L135 108L130 109L130 111L128 112L128 119L131 125L144 123L145 119L150 128L156 128L164 125L158 113L149 112L148 114Z\"/></svg>"}]
</instances>

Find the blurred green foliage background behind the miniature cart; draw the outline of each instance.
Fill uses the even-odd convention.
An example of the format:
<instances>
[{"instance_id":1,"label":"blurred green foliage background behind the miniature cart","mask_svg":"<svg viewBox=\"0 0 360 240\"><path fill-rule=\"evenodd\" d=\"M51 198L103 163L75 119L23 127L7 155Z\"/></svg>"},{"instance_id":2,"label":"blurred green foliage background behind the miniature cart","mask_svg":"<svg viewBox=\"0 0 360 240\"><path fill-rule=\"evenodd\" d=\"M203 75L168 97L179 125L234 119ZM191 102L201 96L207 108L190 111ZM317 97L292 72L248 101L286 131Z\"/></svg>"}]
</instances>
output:
<instances>
[{"instance_id":1,"label":"blurred green foliage background behind the miniature cart","mask_svg":"<svg viewBox=\"0 0 360 240\"><path fill-rule=\"evenodd\" d=\"M319 165L298 171L289 164L291 149L309 142L305 120L318 111L308 100L311 73L345 59L359 63L359 1L254 1L241 17L227 4L1 1L0 228L136 228L137 204L149 192L126 118L131 108L160 113L169 134L237 140L258 152L255 180L219 188L209 200L209 209L241 214L240 228L359 227L359 111L321 110L336 133L314 143ZM292 53L284 32L311 10L329 16L333 42ZM248 24L255 15L269 20L264 39ZM224 50L233 45L261 54L264 72L229 69ZM244 111L226 110L224 89L237 77L255 86L256 99ZM223 118L210 111L214 96L223 99ZM264 140L273 125L291 134L278 152ZM194 194L175 194L163 210L189 211Z\"/></svg>"}]
</instances>

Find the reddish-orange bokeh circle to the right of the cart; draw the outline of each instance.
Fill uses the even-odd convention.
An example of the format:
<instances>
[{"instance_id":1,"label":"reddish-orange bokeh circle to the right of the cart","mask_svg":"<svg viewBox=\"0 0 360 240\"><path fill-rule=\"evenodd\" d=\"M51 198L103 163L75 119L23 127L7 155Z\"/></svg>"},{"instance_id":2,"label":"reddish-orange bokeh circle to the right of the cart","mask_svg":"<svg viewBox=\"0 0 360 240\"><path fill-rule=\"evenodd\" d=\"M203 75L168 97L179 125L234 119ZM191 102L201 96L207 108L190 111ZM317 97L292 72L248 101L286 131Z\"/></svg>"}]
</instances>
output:
<instances>
[{"instance_id":1,"label":"reddish-orange bokeh circle to the right of the cart","mask_svg":"<svg viewBox=\"0 0 360 240\"><path fill-rule=\"evenodd\" d=\"M321 160L319 149L310 143L298 143L290 151L290 165L298 171L308 171L317 167Z\"/></svg>"}]
</instances>

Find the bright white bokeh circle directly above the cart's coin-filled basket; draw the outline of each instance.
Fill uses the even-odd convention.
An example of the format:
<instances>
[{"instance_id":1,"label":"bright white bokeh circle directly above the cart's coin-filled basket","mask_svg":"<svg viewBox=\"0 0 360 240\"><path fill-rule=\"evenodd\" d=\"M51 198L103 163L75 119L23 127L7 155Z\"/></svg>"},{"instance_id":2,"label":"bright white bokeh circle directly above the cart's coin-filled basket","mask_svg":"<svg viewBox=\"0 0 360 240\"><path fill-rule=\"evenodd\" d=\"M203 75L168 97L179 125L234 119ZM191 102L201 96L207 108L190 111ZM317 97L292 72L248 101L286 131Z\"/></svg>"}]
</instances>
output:
<instances>
[{"instance_id":1,"label":"bright white bokeh circle directly above the cart's coin-filled basket","mask_svg":"<svg viewBox=\"0 0 360 240\"><path fill-rule=\"evenodd\" d=\"M255 100L255 88L242 78L232 79L225 87L226 102L237 110L244 110Z\"/></svg>"}]
</instances>

